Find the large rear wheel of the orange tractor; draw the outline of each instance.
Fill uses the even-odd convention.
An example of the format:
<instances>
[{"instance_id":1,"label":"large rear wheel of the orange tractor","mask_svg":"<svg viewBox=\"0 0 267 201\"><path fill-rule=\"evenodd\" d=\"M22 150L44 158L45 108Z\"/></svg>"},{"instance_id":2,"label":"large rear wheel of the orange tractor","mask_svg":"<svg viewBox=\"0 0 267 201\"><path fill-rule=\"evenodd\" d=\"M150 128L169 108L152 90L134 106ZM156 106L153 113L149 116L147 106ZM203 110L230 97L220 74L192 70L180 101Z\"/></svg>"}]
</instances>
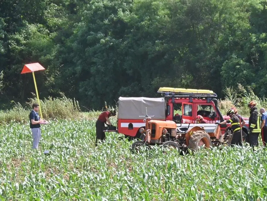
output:
<instances>
[{"instance_id":1,"label":"large rear wheel of the orange tractor","mask_svg":"<svg viewBox=\"0 0 267 201\"><path fill-rule=\"evenodd\" d=\"M212 147L212 141L209 134L204 130L197 130L190 136L188 149L198 151L198 147L205 145L206 148Z\"/></svg>"}]
</instances>

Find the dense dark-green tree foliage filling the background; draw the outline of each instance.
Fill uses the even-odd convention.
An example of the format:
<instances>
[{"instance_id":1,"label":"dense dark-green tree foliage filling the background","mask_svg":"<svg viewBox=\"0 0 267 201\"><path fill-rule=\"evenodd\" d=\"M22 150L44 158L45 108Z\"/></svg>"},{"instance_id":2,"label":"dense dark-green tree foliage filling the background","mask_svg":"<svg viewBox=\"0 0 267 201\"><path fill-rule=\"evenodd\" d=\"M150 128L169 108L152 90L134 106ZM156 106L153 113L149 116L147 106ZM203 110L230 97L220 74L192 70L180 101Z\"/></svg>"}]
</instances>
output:
<instances>
[{"instance_id":1,"label":"dense dark-green tree foliage filling the background","mask_svg":"<svg viewBox=\"0 0 267 201\"><path fill-rule=\"evenodd\" d=\"M267 95L263 0L38 0L0 2L1 102L34 92L25 63L39 62L41 97L100 109L119 96L154 97L160 86L237 83Z\"/></svg>"}]
</instances>

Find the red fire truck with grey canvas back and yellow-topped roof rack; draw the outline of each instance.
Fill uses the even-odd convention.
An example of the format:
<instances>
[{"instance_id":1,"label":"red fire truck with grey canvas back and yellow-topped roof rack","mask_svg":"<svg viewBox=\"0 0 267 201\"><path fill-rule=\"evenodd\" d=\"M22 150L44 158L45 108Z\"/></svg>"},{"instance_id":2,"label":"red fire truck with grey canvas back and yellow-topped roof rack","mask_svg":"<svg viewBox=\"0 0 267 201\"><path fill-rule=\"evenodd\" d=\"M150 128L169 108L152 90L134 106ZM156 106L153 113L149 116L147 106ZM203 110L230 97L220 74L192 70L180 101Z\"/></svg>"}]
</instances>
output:
<instances>
[{"instance_id":1,"label":"red fire truck with grey canvas back and yellow-topped roof rack","mask_svg":"<svg viewBox=\"0 0 267 201\"><path fill-rule=\"evenodd\" d=\"M211 90L196 90L161 87L158 92L161 98L120 97L117 115L117 132L125 136L140 138L139 129L145 128L144 116L152 115L151 119L181 123L180 127L204 127L207 133L213 132L216 122L229 119L222 116L218 108L216 93ZM201 115L208 123L196 124L196 116ZM244 117L243 117L244 118ZM248 118L242 131L248 133ZM221 125L222 134L228 125Z\"/></svg>"}]
</instances>

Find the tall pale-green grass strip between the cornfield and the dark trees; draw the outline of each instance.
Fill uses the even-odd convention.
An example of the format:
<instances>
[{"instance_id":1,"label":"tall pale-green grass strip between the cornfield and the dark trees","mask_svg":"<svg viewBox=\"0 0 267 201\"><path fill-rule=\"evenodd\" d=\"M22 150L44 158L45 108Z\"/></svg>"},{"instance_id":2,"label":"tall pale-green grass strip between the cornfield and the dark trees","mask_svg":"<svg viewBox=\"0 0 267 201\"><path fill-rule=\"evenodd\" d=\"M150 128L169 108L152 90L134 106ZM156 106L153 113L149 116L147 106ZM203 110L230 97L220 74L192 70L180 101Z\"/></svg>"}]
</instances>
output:
<instances>
[{"instance_id":1,"label":"tall pale-green grass strip between the cornfield and the dark trees","mask_svg":"<svg viewBox=\"0 0 267 201\"><path fill-rule=\"evenodd\" d=\"M242 85L238 85L237 88L229 87L225 89L225 99L219 100L219 109L221 113L226 114L227 110L231 107L236 107L244 117L249 117L249 108L247 104L251 100L257 102L257 108L261 107L267 108L267 99L259 98L253 92L252 88L247 87L246 89ZM34 95L34 94L33 94ZM61 98L48 97L44 100L40 100L43 118L45 119L91 119L95 120L101 111L90 111L81 112L79 102L77 100L72 100L67 98L64 94L61 94ZM23 107L20 103L15 103L12 101L13 107L10 110L1 111L0 110L0 123L3 122L23 122L28 121L28 115L31 111L32 103L37 103L37 99L30 98L26 103L26 107ZM110 106L108 106L110 109ZM117 107L116 107L117 109ZM176 110L175 114L181 114L182 111Z\"/></svg>"}]
</instances>

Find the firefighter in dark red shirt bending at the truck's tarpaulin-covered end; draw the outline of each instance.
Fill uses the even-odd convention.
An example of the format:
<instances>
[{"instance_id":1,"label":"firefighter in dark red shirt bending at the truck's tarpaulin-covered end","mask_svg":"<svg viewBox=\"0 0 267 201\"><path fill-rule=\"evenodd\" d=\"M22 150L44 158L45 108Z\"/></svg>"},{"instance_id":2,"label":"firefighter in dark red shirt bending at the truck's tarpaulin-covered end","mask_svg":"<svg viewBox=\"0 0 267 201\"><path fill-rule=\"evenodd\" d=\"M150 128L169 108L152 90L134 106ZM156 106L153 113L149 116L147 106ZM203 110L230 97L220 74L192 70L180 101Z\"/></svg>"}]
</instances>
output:
<instances>
[{"instance_id":1,"label":"firefighter in dark red shirt bending at the truck's tarpaulin-covered end","mask_svg":"<svg viewBox=\"0 0 267 201\"><path fill-rule=\"evenodd\" d=\"M104 124L108 123L108 125L112 126L112 124L109 121L109 117L115 116L116 110L111 109L110 111L104 111L102 112L96 121L96 146L98 143L98 140L101 140L102 142L106 139L106 135L103 132Z\"/></svg>"}]
</instances>

